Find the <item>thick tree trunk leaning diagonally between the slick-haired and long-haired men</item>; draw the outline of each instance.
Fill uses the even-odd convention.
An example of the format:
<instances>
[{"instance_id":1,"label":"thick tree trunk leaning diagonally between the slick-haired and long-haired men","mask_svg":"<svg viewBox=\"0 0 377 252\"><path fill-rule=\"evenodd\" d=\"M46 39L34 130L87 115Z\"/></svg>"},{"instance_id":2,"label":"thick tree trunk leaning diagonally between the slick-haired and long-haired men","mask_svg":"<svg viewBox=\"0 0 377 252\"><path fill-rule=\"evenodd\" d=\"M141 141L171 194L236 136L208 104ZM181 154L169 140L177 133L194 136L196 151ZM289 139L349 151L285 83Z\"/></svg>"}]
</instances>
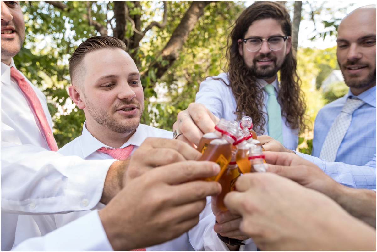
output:
<instances>
[{"instance_id":1,"label":"thick tree trunk leaning diagonally between the slick-haired and long-haired men","mask_svg":"<svg viewBox=\"0 0 377 252\"><path fill-rule=\"evenodd\" d=\"M189 37L190 32L198 22L199 17L203 15L204 8L212 1L193 1L189 10L185 13L184 17L181 19L181 23L174 30L172 37L170 37L169 42L166 44L160 55L162 60L168 61L166 65L162 65L160 61L154 61L148 71L156 69L156 77L161 78L162 75L167 71L167 69L172 66L174 61L179 55L179 51L182 49L183 44ZM157 58L157 57L156 57ZM146 77L148 71L143 73L143 77Z\"/></svg>"}]
</instances>

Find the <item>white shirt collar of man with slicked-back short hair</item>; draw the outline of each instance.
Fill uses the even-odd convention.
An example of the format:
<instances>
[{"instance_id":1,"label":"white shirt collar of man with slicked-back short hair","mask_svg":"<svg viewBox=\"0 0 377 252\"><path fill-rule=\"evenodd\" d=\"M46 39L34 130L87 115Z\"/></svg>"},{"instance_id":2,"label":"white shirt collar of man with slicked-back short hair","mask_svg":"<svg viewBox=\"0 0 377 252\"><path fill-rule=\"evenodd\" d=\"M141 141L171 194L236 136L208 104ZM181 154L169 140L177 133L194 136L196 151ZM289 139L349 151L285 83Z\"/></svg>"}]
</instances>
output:
<instances>
[{"instance_id":1,"label":"white shirt collar of man with slicked-back short hair","mask_svg":"<svg viewBox=\"0 0 377 252\"><path fill-rule=\"evenodd\" d=\"M130 137L130 139L126 143L124 143L120 147L120 149L127 147L130 144L134 146L140 146L140 144L143 143L146 137L142 134L143 129L140 129L141 125L143 124L139 125L135 133ZM88 157L89 155L91 155L93 152L96 152L101 147L108 147L109 149L114 149L102 143L101 141L97 140L97 138L93 137L93 135L90 134L90 132L86 128L86 121L84 122L83 132L81 134L80 141L81 141L81 148L82 148L81 151L83 152L83 158Z\"/></svg>"}]
</instances>

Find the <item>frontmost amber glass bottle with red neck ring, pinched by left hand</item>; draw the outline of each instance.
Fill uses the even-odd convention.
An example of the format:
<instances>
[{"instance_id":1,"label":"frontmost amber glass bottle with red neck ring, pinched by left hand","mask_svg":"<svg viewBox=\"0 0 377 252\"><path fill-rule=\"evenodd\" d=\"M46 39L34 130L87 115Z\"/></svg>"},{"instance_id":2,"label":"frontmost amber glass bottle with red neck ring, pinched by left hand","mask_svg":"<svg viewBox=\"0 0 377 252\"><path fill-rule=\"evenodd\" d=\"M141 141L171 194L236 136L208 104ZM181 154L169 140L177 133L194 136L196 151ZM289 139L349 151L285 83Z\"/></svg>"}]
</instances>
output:
<instances>
[{"instance_id":1,"label":"frontmost amber glass bottle with red neck ring, pinched by left hand","mask_svg":"<svg viewBox=\"0 0 377 252\"><path fill-rule=\"evenodd\" d=\"M213 161L218 163L220 166L220 172L216 176L205 178L205 180L219 181L232 157L232 145L236 140L236 137L234 137L236 133L237 128L230 125L227 131L224 131L221 138L214 139L208 144L201 158L199 158L199 161Z\"/></svg>"}]
</instances>

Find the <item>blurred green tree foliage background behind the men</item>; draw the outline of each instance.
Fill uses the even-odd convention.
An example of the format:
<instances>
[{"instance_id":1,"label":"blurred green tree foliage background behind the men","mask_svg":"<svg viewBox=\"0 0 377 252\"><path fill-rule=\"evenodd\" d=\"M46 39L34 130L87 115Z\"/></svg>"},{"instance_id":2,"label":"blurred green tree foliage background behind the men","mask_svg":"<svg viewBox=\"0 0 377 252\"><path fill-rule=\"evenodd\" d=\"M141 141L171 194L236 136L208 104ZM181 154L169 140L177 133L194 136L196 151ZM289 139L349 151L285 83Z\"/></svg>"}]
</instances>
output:
<instances>
[{"instance_id":1,"label":"blurred green tree foliage background behind the men","mask_svg":"<svg viewBox=\"0 0 377 252\"><path fill-rule=\"evenodd\" d=\"M14 61L48 97L55 139L62 147L81 134L85 120L83 111L67 94L70 55L86 38L118 37L128 46L142 75L146 109L141 122L171 130L177 113L195 101L200 82L225 71L222 57L227 35L245 5L252 2L25 1L25 47ZM317 32L312 40L335 36L337 16L345 15L344 8L326 9L315 1L303 1L302 10L295 1L279 2L292 13L292 18L297 12L300 20L324 24L325 31ZM328 14L327 20L318 21L315 17L323 12ZM299 46L297 62L310 117L298 149L310 154L318 110L343 96L348 88L339 82L329 85L326 92L321 87L322 81L339 69L335 47Z\"/></svg>"}]
</instances>

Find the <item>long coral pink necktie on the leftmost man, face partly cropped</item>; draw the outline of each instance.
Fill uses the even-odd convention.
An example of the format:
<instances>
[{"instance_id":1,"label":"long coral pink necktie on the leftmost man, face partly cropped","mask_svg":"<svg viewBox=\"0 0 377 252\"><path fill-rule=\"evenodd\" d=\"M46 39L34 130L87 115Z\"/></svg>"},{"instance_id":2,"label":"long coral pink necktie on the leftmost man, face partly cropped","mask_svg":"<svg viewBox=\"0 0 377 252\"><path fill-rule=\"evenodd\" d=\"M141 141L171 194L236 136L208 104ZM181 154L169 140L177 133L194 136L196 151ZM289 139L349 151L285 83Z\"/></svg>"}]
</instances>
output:
<instances>
[{"instance_id":1,"label":"long coral pink necktie on the leftmost man, face partly cropped","mask_svg":"<svg viewBox=\"0 0 377 252\"><path fill-rule=\"evenodd\" d=\"M51 151L57 151L59 149L58 145L56 144L54 135L51 132L51 128L47 122L46 115L44 114L42 104L39 101L37 94L35 94L30 84L25 80L25 77L23 77L23 75L14 67L11 67L11 77L15 78L18 86L28 100L29 105L31 105L35 115L37 115L38 125L41 127L40 130L44 134L44 138L46 139Z\"/></svg>"}]
</instances>

